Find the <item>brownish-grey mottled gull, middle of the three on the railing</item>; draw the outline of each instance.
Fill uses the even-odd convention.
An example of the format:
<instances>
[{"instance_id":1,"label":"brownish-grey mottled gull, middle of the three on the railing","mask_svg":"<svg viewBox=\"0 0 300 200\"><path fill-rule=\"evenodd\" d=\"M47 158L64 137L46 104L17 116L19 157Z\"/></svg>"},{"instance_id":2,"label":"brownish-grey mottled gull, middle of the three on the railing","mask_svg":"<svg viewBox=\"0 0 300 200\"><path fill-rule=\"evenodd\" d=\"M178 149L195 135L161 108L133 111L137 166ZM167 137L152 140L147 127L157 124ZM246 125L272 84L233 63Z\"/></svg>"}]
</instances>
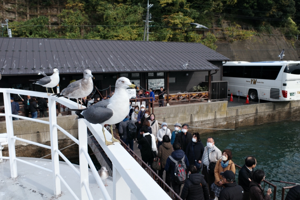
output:
<instances>
[{"instance_id":1,"label":"brownish-grey mottled gull, middle of the three on the railing","mask_svg":"<svg viewBox=\"0 0 300 200\"><path fill-rule=\"evenodd\" d=\"M94 78L94 76L92 75L91 70L86 69L83 71L82 79L70 83L67 86L67 88L61 91L61 93L52 94L52 96L56 95L57 97L66 96L68 98L76 98L78 109L79 109L78 98L81 98L80 109L82 109L82 97L91 94L91 92L93 91L94 84L92 78Z\"/></svg>"}]
</instances>

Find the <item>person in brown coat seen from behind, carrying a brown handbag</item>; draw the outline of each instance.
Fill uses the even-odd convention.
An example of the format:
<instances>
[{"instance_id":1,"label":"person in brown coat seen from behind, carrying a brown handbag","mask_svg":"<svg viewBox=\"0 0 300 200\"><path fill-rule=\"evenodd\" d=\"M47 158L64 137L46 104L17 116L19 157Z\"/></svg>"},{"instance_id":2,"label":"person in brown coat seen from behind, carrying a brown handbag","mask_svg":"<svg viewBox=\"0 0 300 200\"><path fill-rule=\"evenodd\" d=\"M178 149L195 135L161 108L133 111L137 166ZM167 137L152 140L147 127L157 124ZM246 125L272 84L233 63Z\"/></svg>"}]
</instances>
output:
<instances>
[{"instance_id":1,"label":"person in brown coat seen from behind, carrying a brown handbag","mask_svg":"<svg viewBox=\"0 0 300 200\"><path fill-rule=\"evenodd\" d=\"M161 170L158 171L158 176L163 179L163 174L165 171L166 162L169 156L171 156L173 152L173 147L171 144L170 137L168 135L164 135L163 137L163 144L158 148L157 157L161 159ZM166 171L166 179L165 182L168 186L171 187L171 174L169 171ZM161 185L161 187L163 187Z\"/></svg>"}]
</instances>

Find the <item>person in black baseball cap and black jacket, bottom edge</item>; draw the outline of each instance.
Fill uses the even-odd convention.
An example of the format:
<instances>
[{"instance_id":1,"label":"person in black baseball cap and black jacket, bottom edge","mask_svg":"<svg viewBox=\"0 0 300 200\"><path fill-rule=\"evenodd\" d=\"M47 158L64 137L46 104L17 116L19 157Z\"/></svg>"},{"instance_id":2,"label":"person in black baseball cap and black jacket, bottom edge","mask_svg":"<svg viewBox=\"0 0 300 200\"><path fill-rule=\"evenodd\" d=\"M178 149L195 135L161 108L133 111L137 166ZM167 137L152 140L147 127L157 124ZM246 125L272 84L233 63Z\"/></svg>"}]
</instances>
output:
<instances>
[{"instance_id":1,"label":"person in black baseball cap and black jacket, bottom edge","mask_svg":"<svg viewBox=\"0 0 300 200\"><path fill-rule=\"evenodd\" d=\"M220 192L219 200L242 200L244 189L236 184L235 174L231 170L226 170L220 173L222 176L223 186L225 187Z\"/></svg>"}]
</instances>

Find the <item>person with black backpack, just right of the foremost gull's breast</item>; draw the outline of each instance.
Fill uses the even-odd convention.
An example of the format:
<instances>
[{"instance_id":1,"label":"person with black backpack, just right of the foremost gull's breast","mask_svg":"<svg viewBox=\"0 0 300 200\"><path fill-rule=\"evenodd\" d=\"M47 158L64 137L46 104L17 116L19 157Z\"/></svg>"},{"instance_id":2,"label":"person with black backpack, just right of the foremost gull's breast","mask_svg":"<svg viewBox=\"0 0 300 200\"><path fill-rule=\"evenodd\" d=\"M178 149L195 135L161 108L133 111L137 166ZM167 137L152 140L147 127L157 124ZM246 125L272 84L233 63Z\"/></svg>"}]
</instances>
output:
<instances>
[{"instance_id":1,"label":"person with black backpack, just right of the foremost gull's breast","mask_svg":"<svg viewBox=\"0 0 300 200\"><path fill-rule=\"evenodd\" d=\"M119 136L131 150L133 150L133 139L135 138L136 132L137 127L128 116L119 123Z\"/></svg>"}]
</instances>

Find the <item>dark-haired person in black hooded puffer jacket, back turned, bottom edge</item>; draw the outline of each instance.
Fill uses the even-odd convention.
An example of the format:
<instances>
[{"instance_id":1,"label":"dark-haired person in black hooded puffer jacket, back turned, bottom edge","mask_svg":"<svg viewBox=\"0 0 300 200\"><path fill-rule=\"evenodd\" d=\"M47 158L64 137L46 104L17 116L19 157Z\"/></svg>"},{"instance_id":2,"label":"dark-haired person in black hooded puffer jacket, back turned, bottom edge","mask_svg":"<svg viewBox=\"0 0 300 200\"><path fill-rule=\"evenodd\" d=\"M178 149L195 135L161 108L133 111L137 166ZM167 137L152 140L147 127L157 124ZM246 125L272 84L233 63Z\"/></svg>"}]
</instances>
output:
<instances>
[{"instance_id":1,"label":"dark-haired person in black hooded puffer jacket, back turned, bottom edge","mask_svg":"<svg viewBox=\"0 0 300 200\"><path fill-rule=\"evenodd\" d=\"M189 177L184 183L180 198L183 200L209 200L209 191L204 175L198 174L195 165L188 168Z\"/></svg>"}]
</instances>

